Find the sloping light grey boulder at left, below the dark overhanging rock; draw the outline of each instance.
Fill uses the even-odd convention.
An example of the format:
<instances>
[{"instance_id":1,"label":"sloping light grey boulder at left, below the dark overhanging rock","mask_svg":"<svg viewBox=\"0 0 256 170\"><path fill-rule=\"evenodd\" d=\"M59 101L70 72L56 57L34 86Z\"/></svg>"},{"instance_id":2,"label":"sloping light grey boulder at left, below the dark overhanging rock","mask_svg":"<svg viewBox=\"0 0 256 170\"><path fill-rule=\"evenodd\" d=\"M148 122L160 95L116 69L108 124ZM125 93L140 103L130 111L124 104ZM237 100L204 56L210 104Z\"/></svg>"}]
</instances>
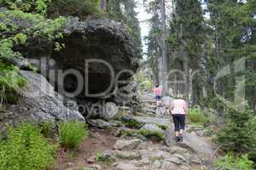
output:
<instances>
[{"instance_id":1,"label":"sloping light grey boulder at left, below the dark overhanging rock","mask_svg":"<svg viewBox=\"0 0 256 170\"><path fill-rule=\"evenodd\" d=\"M22 95L17 105L9 105L7 112L14 114L11 117L15 122L31 121L57 122L78 120L84 122L79 111L68 109L62 103L61 95L56 94L47 80L32 71L20 71L27 80L26 90L19 90Z\"/></svg>"}]
</instances>

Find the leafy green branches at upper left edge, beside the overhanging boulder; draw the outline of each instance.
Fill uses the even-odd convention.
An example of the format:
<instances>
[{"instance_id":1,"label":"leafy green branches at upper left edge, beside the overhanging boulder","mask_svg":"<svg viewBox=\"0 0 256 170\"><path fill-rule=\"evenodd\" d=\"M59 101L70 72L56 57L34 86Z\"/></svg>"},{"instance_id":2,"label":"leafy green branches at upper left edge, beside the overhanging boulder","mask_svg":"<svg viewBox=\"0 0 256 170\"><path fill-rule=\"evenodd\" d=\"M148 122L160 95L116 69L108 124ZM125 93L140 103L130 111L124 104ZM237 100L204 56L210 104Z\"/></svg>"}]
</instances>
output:
<instances>
[{"instance_id":1,"label":"leafy green branches at upper left edge, beside the overhanging boulder","mask_svg":"<svg viewBox=\"0 0 256 170\"><path fill-rule=\"evenodd\" d=\"M15 103L18 95L14 94L14 89L26 85L26 80L18 73L19 69L5 62L21 56L19 52L14 50L14 47L26 44L28 37L42 36L53 41L62 36L61 30L67 20L63 17L55 20L46 19L44 14L41 14L41 9L45 10L43 6L45 6L46 1L3 0L3 5L13 10L0 12L0 18L4 21L0 24L0 31L3 32L0 35L0 102L4 99L5 102ZM38 14L26 13L32 12L32 8L38 8ZM13 20L27 22L32 26L23 29L20 25L15 24Z\"/></svg>"}]
</instances>

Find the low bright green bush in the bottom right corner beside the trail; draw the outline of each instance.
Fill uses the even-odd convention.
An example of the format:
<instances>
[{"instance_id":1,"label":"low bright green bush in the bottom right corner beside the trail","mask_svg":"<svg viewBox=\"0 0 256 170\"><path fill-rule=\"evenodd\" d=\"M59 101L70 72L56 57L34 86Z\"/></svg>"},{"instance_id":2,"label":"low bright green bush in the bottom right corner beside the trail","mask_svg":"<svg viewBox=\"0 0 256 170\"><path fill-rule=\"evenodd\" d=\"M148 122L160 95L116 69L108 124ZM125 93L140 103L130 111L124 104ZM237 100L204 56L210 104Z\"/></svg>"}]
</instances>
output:
<instances>
[{"instance_id":1,"label":"low bright green bush in the bottom right corner beside the trail","mask_svg":"<svg viewBox=\"0 0 256 170\"><path fill-rule=\"evenodd\" d=\"M233 156L229 153L226 156L219 157L214 162L214 167L222 170L239 169L239 170L253 170L253 161L249 161L247 155Z\"/></svg>"}]
</instances>

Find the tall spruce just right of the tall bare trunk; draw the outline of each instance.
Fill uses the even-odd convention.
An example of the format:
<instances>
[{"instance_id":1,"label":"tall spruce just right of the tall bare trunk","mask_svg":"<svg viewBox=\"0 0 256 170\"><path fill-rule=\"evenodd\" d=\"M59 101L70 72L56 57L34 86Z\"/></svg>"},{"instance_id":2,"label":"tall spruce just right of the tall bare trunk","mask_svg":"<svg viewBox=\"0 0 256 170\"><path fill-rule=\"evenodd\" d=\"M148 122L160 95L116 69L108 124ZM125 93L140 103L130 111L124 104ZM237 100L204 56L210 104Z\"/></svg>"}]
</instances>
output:
<instances>
[{"instance_id":1,"label":"tall spruce just right of the tall bare trunk","mask_svg":"<svg viewBox=\"0 0 256 170\"><path fill-rule=\"evenodd\" d=\"M174 1L175 12L172 16L169 45L172 50L172 69L179 69L186 74L185 92L189 101L189 93L193 89L193 103L198 104L202 94L203 69L202 49L205 40L204 19L201 3L197 0ZM190 71L199 71L193 80L189 79ZM178 75L177 75L178 77ZM180 75L179 75L180 77ZM190 82L193 86L190 87ZM178 85L178 88L181 88ZM178 90L178 89L177 89Z\"/></svg>"}]
</instances>

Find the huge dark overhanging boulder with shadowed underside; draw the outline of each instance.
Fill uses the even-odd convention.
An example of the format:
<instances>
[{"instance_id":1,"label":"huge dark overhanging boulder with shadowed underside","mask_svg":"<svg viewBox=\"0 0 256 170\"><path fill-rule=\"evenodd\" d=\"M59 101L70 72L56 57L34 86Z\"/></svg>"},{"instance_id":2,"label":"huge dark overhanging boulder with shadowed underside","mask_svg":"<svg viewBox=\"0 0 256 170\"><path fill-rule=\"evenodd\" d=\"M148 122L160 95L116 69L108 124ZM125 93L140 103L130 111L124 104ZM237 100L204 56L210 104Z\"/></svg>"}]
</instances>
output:
<instances>
[{"instance_id":1,"label":"huge dark overhanging boulder with shadowed underside","mask_svg":"<svg viewBox=\"0 0 256 170\"><path fill-rule=\"evenodd\" d=\"M30 38L25 47L17 47L17 50L27 59L40 60L38 68L44 77L59 87L60 93L63 89L74 92L82 88L79 93L82 97L108 98L116 88L113 82L117 75L119 81L131 77L121 71L137 71L136 50L125 26L119 22L106 18L82 21L69 17L64 37L59 42L65 44L59 52L44 38ZM50 71L55 71L55 75L49 74ZM107 93L102 95L89 95L106 90Z\"/></svg>"}]
</instances>

